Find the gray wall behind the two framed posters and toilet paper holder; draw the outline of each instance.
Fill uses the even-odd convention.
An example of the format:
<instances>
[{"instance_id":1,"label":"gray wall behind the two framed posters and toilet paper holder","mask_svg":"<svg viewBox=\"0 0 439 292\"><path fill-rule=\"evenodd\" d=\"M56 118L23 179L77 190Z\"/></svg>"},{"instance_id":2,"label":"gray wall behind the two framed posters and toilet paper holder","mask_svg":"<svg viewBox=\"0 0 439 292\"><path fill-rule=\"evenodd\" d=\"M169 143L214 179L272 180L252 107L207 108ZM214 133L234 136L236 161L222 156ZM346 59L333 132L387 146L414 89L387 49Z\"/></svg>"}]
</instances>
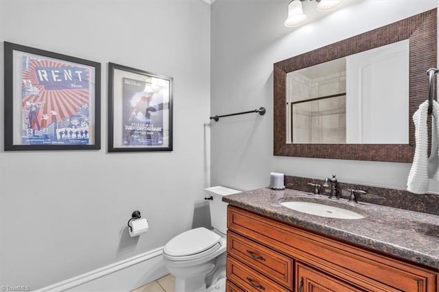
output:
<instances>
[{"instance_id":1,"label":"gray wall behind the two framed posters and toilet paper holder","mask_svg":"<svg viewBox=\"0 0 439 292\"><path fill-rule=\"evenodd\" d=\"M208 4L1 0L5 40L102 63L102 149L1 147L0 286L45 287L209 225L194 215L210 186ZM107 62L174 77L174 151L106 152ZM3 145L3 118L0 137ZM126 223L137 209L150 230L132 239Z\"/></svg>"}]
</instances>

